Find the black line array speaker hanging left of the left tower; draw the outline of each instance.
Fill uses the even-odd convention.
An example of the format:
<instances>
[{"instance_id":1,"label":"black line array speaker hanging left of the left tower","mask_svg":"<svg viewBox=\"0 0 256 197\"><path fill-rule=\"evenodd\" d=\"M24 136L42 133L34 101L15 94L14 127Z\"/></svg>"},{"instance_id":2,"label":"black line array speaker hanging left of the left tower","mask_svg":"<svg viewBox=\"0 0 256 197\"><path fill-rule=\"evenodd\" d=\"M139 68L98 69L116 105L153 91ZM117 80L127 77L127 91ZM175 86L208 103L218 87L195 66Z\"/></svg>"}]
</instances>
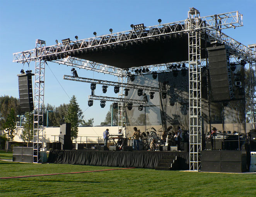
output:
<instances>
[{"instance_id":1,"label":"black line array speaker hanging left of the left tower","mask_svg":"<svg viewBox=\"0 0 256 197\"><path fill-rule=\"evenodd\" d=\"M34 110L32 92L32 73L17 75L19 79L19 98L21 112L31 112Z\"/></svg>"}]
</instances>

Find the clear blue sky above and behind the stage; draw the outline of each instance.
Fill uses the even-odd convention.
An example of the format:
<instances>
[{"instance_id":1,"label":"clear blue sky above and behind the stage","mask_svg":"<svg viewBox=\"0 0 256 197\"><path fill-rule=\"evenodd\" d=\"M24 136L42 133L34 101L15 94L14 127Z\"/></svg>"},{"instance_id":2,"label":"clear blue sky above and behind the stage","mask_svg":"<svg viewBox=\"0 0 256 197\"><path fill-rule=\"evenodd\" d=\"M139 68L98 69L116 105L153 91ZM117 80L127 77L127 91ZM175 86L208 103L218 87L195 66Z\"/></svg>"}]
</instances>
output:
<instances>
[{"instance_id":1,"label":"clear blue sky above and behind the stage","mask_svg":"<svg viewBox=\"0 0 256 197\"><path fill-rule=\"evenodd\" d=\"M17 74L23 65L13 63L13 53L35 47L36 39L46 41L46 46L55 40L75 36L79 39L113 32L126 31L130 24L145 26L175 22L187 18L189 7L195 7L201 16L221 14L238 10L243 14L243 27L226 29L228 36L242 44L256 43L255 0L0 0L0 96L19 97ZM72 95L77 97L85 119L94 118L94 125L104 121L110 102L102 109L99 101L88 108L90 84L63 80L71 74L71 67L48 63L45 71L44 104L59 106L68 103ZM24 70L28 65L24 65ZM29 69L34 70L34 62ZM78 70L79 76L115 80L116 77L93 71ZM61 83L61 88L58 81ZM109 88L106 96L116 96ZM111 91L110 91L111 90ZM99 85L96 95L102 93Z\"/></svg>"}]
</instances>

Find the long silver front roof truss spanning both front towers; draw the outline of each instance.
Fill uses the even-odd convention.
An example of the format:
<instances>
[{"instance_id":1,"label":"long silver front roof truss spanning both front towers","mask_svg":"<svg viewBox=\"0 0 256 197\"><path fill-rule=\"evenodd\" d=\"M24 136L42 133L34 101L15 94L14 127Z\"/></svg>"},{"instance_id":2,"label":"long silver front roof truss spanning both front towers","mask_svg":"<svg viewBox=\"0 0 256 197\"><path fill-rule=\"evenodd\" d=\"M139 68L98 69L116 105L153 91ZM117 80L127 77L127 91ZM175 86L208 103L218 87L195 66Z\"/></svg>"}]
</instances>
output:
<instances>
[{"instance_id":1,"label":"long silver front roof truss spanning both front towers","mask_svg":"<svg viewBox=\"0 0 256 197\"><path fill-rule=\"evenodd\" d=\"M197 18L197 23L191 23L193 29L204 29L216 31L220 29L227 29L242 26L242 14L238 11L227 12L224 14L210 15L206 17ZM88 39L78 41L71 41L70 44L56 44L20 53L14 53L14 62L25 63L35 61L37 58L43 58L49 55L68 53L73 51L81 51L84 49L103 47L112 44L122 44L127 41L136 41L141 39L150 39L152 37L168 35L173 33L182 33L190 31L186 20L172 22L167 24L160 24L155 26L146 27L144 31L129 30L103 36L96 36ZM38 51L36 51L38 50Z\"/></svg>"}]
</instances>

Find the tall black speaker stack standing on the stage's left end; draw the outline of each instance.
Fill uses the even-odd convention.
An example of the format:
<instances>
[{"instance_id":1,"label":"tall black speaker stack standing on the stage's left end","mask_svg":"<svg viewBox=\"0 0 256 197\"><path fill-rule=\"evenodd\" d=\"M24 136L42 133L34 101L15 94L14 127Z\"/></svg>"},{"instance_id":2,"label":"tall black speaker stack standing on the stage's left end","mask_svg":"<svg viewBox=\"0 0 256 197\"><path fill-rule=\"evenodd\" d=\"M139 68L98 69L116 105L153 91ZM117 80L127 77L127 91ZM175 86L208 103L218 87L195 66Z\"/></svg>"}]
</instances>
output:
<instances>
[{"instance_id":1,"label":"tall black speaker stack standing on the stage's left end","mask_svg":"<svg viewBox=\"0 0 256 197\"><path fill-rule=\"evenodd\" d=\"M71 140L71 124L64 123L60 125L59 142L61 143L61 149L72 150L73 144Z\"/></svg>"}]
</instances>

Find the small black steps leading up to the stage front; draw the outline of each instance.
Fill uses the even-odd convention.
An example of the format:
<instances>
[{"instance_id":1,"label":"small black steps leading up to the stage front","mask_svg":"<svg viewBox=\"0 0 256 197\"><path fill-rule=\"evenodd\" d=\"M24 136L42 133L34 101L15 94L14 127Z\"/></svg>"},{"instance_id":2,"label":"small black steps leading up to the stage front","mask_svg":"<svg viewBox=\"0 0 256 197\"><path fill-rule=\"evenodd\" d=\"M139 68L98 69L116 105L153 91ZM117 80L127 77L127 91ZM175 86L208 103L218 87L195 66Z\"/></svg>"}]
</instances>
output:
<instances>
[{"instance_id":1,"label":"small black steps leading up to the stage front","mask_svg":"<svg viewBox=\"0 0 256 197\"><path fill-rule=\"evenodd\" d=\"M177 170L177 156L163 156L155 170Z\"/></svg>"}]
</instances>

